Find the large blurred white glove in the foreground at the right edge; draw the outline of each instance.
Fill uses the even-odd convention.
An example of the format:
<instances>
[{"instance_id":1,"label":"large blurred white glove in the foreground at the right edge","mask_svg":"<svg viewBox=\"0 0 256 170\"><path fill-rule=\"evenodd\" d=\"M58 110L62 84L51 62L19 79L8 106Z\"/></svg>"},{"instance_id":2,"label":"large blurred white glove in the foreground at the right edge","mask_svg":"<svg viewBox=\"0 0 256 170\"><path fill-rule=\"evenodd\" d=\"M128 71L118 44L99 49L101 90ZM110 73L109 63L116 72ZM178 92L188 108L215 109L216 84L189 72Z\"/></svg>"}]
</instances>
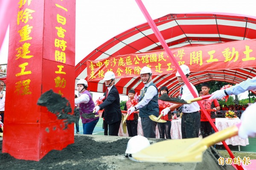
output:
<instances>
[{"instance_id":1,"label":"large blurred white glove in the foreground at the right edge","mask_svg":"<svg viewBox=\"0 0 256 170\"><path fill-rule=\"evenodd\" d=\"M256 136L256 103L250 105L245 109L241 115L241 126L239 127L238 135L240 138L247 138L248 136Z\"/></svg>"}]
</instances>

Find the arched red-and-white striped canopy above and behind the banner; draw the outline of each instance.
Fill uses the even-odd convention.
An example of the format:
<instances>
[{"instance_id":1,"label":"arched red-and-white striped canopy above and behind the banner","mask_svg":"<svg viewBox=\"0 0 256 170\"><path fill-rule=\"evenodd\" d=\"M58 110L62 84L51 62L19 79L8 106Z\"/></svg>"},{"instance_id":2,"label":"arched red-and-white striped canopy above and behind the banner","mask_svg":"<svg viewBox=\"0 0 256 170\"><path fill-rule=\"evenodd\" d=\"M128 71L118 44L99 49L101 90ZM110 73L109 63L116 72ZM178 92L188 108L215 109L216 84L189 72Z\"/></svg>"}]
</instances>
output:
<instances>
[{"instance_id":1,"label":"arched red-and-white striped canopy above and behind the banner","mask_svg":"<svg viewBox=\"0 0 256 170\"><path fill-rule=\"evenodd\" d=\"M256 38L256 17L252 16L225 13L168 14L155 19L154 22L171 49ZM76 79L87 79L87 60L158 49L163 47L148 23L135 26L103 43L80 61L76 65ZM256 61L252 62L256 66ZM237 69L227 69L225 66L219 66L219 70L191 72L189 81L194 85L207 81L238 84L255 76L256 67L238 66ZM167 86L169 95L178 95L180 87L175 74L153 75L153 81L158 89ZM115 86L119 94L127 95L129 89L140 92L144 84L140 77L131 77L117 78ZM104 92L105 88L104 81L88 82L88 90L92 92Z\"/></svg>"}]
</instances>

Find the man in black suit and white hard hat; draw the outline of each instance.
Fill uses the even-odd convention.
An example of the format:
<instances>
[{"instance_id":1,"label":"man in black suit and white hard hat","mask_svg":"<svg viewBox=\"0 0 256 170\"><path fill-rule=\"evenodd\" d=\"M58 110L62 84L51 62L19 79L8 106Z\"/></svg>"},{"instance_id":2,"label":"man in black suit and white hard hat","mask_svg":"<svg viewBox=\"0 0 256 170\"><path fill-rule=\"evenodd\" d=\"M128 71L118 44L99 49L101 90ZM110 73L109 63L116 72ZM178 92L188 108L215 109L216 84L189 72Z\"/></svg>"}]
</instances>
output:
<instances>
[{"instance_id":1,"label":"man in black suit and white hard hat","mask_svg":"<svg viewBox=\"0 0 256 170\"><path fill-rule=\"evenodd\" d=\"M105 101L94 109L99 111L99 109L104 109L104 118L108 124L109 135L118 136L119 127L122 119L122 112L120 109L120 97L116 89L115 84L115 74L111 71L105 73L103 80L108 87L106 92Z\"/></svg>"}]
</instances>

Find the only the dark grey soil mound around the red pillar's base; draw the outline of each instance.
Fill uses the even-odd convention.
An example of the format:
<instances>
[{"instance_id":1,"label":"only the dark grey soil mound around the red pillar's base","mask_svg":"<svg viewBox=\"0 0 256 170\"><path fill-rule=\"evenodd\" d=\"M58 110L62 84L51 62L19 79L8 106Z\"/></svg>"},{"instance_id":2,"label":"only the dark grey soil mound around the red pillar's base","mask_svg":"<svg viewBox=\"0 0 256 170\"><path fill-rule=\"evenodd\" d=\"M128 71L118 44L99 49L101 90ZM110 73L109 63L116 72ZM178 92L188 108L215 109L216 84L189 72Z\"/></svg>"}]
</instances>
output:
<instances>
[{"instance_id":1,"label":"only the dark grey soil mound around the red pillar's base","mask_svg":"<svg viewBox=\"0 0 256 170\"><path fill-rule=\"evenodd\" d=\"M103 137L103 136L102 136ZM63 150L52 150L40 161L15 159L8 153L2 153L0 141L0 169L2 170L106 170L108 165L101 161L102 156L123 155L128 138L113 142L95 141L85 135L75 135L75 143Z\"/></svg>"}]
</instances>

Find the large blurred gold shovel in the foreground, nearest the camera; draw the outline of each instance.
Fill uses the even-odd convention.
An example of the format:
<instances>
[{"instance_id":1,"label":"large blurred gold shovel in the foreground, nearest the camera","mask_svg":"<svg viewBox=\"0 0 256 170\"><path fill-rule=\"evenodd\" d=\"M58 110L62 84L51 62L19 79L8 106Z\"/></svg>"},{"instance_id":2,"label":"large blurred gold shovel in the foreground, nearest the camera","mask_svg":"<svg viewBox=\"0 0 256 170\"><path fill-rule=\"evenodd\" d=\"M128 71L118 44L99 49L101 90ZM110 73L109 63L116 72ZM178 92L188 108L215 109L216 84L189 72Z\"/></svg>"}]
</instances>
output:
<instances>
[{"instance_id":1,"label":"large blurred gold shovel in the foreground, nearest the camera","mask_svg":"<svg viewBox=\"0 0 256 170\"><path fill-rule=\"evenodd\" d=\"M241 123L207 136L160 141L150 145L132 157L147 162L200 162L205 150L213 144L238 135ZM165 148L163 150L163 147Z\"/></svg>"}]
</instances>

